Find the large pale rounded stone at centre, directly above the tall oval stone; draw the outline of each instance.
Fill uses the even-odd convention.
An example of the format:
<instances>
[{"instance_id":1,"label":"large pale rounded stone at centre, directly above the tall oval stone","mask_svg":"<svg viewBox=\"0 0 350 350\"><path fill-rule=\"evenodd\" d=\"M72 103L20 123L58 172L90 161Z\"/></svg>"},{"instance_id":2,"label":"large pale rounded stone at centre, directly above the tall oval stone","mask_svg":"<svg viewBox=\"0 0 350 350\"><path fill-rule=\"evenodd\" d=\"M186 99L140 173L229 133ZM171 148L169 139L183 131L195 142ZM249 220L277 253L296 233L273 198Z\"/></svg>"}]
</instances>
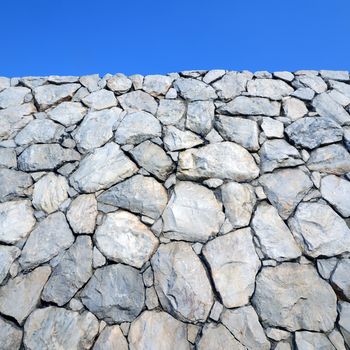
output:
<instances>
[{"instance_id":1,"label":"large pale rounded stone at centre, directly above the tall oval stone","mask_svg":"<svg viewBox=\"0 0 350 350\"><path fill-rule=\"evenodd\" d=\"M192 182L178 182L163 213L164 235L171 239L205 242L224 222L214 193Z\"/></svg>"}]
</instances>

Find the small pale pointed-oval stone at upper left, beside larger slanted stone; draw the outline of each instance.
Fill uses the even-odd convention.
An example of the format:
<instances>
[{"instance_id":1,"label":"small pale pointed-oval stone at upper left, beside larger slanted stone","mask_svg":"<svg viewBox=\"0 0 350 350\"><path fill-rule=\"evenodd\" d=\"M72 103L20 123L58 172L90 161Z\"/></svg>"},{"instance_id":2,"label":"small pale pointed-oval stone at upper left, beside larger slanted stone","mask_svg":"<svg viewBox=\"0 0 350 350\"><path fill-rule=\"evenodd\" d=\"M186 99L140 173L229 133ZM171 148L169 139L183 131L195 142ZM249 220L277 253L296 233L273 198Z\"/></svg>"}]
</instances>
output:
<instances>
[{"instance_id":1,"label":"small pale pointed-oval stone at upper left, beside larger slanted stone","mask_svg":"<svg viewBox=\"0 0 350 350\"><path fill-rule=\"evenodd\" d=\"M75 125L84 118L86 108L80 102L62 102L49 110L47 116L64 126Z\"/></svg>"}]
</instances>

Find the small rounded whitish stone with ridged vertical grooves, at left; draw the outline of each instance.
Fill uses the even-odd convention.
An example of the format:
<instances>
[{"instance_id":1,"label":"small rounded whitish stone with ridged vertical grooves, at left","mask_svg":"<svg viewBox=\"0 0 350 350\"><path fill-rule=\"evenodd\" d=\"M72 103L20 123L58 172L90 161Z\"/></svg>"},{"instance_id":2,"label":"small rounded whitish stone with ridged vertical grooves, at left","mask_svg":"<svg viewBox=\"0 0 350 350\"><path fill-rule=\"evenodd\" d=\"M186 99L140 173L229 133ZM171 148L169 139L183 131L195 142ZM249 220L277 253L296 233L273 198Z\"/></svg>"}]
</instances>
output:
<instances>
[{"instance_id":1,"label":"small rounded whitish stone with ridged vertical grooves, at left","mask_svg":"<svg viewBox=\"0 0 350 350\"><path fill-rule=\"evenodd\" d=\"M48 173L34 185L33 206L48 214L53 213L68 198L68 188L64 176Z\"/></svg>"}]
</instances>

